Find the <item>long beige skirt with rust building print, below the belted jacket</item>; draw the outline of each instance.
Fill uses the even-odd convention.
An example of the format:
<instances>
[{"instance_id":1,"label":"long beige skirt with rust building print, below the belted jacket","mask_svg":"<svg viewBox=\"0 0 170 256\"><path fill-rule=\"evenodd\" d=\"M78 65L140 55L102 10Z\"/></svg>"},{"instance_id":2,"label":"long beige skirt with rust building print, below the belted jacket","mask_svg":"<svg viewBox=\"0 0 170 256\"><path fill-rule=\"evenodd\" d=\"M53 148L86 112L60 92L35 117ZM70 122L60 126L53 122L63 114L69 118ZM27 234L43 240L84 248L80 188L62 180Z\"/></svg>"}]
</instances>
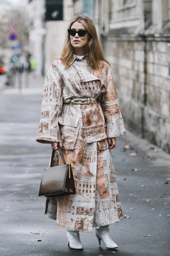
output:
<instances>
[{"instance_id":1,"label":"long beige skirt with rust building print, below the belted jacket","mask_svg":"<svg viewBox=\"0 0 170 256\"><path fill-rule=\"evenodd\" d=\"M99 142L86 143L81 137L81 127L80 119L74 149L62 150L65 162L71 163L76 194L48 197L45 214L61 227L91 232L92 227L122 220L123 213L111 150L99 150ZM57 150L53 166L62 164Z\"/></svg>"}]
</instances>

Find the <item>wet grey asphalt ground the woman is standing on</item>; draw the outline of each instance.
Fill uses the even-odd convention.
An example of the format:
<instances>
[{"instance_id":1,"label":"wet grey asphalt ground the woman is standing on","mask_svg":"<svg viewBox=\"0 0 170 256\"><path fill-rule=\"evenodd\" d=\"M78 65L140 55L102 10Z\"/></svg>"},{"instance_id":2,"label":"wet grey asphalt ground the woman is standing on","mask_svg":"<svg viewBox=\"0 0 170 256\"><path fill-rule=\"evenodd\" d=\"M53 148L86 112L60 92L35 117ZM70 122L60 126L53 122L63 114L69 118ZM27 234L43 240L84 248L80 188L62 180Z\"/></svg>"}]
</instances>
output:
<instances>
[{"instance_id":1,"label":"wet grey asphalt ground the woman is standing on","mask_svg":"<svg viewBox=\"0 0 170 256\"><path fill-rule=\"evenodd\" d=\"M41 87L0 95L0 255L1 256L168 256L170 255L170 155L155 152L127 131L112 150L124 218L110 226L115 250L99 247L92 233L80 233L84 250L67 246L66 230L44 215L38 197L50 145L35 141ZM124 145L131 149L123 151ZM136 156L129 156L137 152ZM132 171L132 169L138 169ZM164 182L168 182L164 184ZM34 233L42 234L34 234ZM38 241L41 240L41 241Z\"/></svg>"}]
</instances>

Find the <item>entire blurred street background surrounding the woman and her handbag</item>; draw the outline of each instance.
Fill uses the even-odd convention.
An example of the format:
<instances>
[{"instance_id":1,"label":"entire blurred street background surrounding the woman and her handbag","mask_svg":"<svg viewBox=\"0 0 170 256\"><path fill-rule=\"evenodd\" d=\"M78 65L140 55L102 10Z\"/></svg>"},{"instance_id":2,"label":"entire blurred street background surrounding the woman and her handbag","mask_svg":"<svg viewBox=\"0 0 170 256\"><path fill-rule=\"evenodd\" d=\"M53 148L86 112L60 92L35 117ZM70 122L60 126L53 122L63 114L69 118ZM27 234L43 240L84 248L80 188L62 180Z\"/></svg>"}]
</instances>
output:
<instances>
[{"instance_id":1,"label":"entire blurred street background surrounding the woman and her handbag","mask_svg":"<svg viewBox=\"0 0 170 256\"><path fill-rule=\"evenodd\" d=\"M71 250L38 197L51 154L35 141L43 83L80 14L96 25L127 131L112 150L117 250L99 248L94 230ZM170 255L170 0L0 0L0 145L0 255Z\"/></svg>"}]
</instances>

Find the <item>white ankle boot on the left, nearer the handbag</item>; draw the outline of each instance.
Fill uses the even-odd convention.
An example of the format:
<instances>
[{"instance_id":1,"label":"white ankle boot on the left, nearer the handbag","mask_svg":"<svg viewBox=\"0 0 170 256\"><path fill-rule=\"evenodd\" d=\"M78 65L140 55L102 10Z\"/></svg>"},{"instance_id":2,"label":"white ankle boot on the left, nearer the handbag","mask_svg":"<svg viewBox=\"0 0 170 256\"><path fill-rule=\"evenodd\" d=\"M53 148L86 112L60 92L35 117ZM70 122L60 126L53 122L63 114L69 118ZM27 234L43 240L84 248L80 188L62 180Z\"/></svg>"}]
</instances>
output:
<instances>
[{"instance_id":1,"label":"white ankle boot on the left, nearer the handbag","mask_svg":"<svg viewBox=\"0 0 170 256\"><path fill-rule=\"evenodd\" d=\"M79 237L79 231L67 230L68 245L72 249L82 249L82 243Z\"/></svg>"}]
</instances>

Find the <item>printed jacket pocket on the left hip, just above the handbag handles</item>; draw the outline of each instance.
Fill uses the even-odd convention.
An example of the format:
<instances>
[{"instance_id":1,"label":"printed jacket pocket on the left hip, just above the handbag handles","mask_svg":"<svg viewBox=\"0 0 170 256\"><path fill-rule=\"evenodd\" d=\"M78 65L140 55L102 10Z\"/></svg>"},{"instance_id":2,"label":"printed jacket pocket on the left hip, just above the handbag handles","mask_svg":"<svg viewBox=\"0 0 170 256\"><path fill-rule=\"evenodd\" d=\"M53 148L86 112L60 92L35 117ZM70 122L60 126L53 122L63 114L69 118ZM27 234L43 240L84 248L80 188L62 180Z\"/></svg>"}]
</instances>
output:
<instances>
[{"instance_id":1,"label":"printed jacket pocket on the left hip, just above the handbag handles","mask_svg":"<svg viewBox=\"0 0 170 256\"><path fill-rule=\"evenodd\" d=\"M78 120L79 122L79 120ZM76 122L77 126L74 124L73 120L70 123L64 122L64 120L59 121L59 131L62 143L62 149L76 149L77 148L77 136L79 133L79 124ZM72 126L71 126L72 124Z\"/></svg>"}]
</instances>

